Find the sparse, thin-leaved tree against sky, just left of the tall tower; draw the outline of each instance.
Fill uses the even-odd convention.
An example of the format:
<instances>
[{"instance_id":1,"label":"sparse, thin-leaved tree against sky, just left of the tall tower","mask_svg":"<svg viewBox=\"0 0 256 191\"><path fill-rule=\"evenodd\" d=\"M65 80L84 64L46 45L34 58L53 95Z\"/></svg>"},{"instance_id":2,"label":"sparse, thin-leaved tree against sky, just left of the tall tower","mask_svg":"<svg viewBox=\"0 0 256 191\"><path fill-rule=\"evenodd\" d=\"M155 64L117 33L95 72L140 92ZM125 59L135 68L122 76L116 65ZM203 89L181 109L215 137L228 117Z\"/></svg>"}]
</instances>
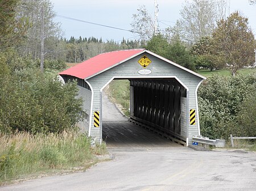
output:
<instances>
[{"instance_id":1,"label":"sparse, thin-leaved tree against sky, just left of the tall tower","mask_svg":"<svg viewBox=\"0 0 256 191\"><path fill-rule=\"evenodd\" d=\"M154 35L155 24L144 5L139 7L138 14L133 14L131 27L134 33L139 34L142 41L147 41Z\"/></svg>"}]
</instances>

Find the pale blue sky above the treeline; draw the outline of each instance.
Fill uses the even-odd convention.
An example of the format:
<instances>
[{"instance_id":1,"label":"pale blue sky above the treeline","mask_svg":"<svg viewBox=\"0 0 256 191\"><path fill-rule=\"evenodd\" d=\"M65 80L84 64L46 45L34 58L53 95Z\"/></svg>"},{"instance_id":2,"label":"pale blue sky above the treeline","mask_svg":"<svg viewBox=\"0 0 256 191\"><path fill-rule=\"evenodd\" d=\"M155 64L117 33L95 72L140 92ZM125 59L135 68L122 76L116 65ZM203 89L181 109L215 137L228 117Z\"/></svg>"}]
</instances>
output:
<instances>
[{"instance_id":1,"label":"pale blue sky above the treeline","mask_svg":"<svg viewBox=\"0 0 256 191\"><path fill-rule=\"evenodd\" d=\"M154 18L154 0L51 0L53 11L57 15L85 20L105 26L131 30L133 14L137 13L139 6L146 6ZM180 10L185 0L157 0L159 28L174 26L180 19ZM256 5L250 5L247 0L228 0L230 13L238 10L249 19L249 26L256 36ZM77 22L57 16L55 22L61 23L64 37L96 37L102 40L138 39L138 34L119 29L96 26L93 24Z\"/></svg>"}]
</instances>

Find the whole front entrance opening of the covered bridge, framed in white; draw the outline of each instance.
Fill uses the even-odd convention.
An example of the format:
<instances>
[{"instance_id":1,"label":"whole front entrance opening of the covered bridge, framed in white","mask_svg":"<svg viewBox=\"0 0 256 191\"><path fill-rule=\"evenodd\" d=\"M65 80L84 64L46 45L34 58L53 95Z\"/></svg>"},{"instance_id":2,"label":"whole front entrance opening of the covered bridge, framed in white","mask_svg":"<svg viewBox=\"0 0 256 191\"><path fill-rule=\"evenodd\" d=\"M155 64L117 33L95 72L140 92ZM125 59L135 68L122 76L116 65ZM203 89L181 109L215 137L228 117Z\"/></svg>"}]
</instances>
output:
<instances>
[{"instance_id":1,"label":"whole front entrance opening of the covered bridge, framed in white","mask_svg":"<svg viewBox=\"0 0 256 191\"><path fill-rule=\"evenodd\" d=\"M115 99L108 99L110 91L122 99L126 117L118 111L118 104L109 102ZM114 79L101 94L102 140L107 146L172 147L170 140L185 145L187 90L177 79Z\"/></svg>"}]
</instances>

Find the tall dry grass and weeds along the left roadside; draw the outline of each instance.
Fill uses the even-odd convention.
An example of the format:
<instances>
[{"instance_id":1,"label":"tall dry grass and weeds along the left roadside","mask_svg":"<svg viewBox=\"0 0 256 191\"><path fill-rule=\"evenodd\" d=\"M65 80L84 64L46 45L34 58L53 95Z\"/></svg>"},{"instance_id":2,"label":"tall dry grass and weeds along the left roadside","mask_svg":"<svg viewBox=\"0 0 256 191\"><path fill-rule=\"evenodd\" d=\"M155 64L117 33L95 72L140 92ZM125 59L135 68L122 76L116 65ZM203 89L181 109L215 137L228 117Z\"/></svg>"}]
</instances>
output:
<instances>
[{"instance_id":1,"label":"tall dry grass and weeds along the left roadside","mask_svg":"<svg viewBox=\"0 0 256 191\"><path fill-rule=\"evenodd\" d=\"M0 144L0 185L85 171L109 159L104 143L92 147L88 135L76 131L0 134Z\"/></svg>"}]
</instances>

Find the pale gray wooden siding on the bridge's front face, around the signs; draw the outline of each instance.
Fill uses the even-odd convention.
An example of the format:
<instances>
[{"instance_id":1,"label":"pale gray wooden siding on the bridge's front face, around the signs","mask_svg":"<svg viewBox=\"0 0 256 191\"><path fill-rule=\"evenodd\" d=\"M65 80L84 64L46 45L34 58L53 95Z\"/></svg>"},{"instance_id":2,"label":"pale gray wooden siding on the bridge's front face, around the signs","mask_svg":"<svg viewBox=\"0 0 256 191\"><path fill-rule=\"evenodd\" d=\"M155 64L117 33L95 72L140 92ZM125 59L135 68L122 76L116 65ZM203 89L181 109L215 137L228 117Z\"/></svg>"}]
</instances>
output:
<instances>
[{"instance_id":1,"label":"pale gray wooden siding on the bridge's front face, around the signs","mask_svg":"<svg viewBox=\"0 0 256 191\"><path fill-rule=\"evenodd\" d=\"M149 75L140 75L138 71L143 69L141 65L139 65L138 60L146 55L152 62L147 66L146 69L151 70L152 73ZM160 60L159 58L152 56L148 53L142 53L137 57L134 57L126 62L121 63L118 66L113 67L105 71L104 73L98 74L95 77L88 79L88 82L92 85L94 96L93 96L93 112L100 111L100 90L101 88L109 82L112 77L132 77L132 78L148 78L148 77L164 77L164 76L175 76L177 77L185 86L189 89L189 109L196 109L196 87L197 84L202 80L201 78L188 73L185 70L180 69L174 65L171 65L168 62ZM198 112L196 110L196 112ZM101 113L100 113L101 115ZM101 121L100 121L101 122ZM101 131L100 128L93 127L93 117L92 117L92 129L91 136L100 137ZM196 125L189 125L189 139L191 142L192 135L198 135L198 120L196 115Z\"/></svg>"}]
</instances>

